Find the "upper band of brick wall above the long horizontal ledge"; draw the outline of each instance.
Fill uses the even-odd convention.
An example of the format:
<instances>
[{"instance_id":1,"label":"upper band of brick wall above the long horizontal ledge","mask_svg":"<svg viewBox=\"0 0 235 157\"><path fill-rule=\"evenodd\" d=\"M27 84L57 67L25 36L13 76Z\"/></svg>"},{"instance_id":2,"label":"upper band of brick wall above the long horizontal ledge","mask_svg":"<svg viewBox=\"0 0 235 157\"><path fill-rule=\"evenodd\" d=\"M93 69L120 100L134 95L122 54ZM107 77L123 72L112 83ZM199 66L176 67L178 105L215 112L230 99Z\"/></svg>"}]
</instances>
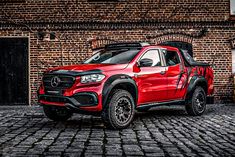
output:
<instances>
[{"instance_id":1,"label":"upper band of brick wall above the long horizontal ledge","mask_svg":"<svg viewBox=\"0 0 235 157\"><path fill-rule=\"evenodd\" d=\"M6 3L8 1L8 3ZM229 0L4 0L0 19L17 22L225 21Z\"/></svg>"}]
</instances>

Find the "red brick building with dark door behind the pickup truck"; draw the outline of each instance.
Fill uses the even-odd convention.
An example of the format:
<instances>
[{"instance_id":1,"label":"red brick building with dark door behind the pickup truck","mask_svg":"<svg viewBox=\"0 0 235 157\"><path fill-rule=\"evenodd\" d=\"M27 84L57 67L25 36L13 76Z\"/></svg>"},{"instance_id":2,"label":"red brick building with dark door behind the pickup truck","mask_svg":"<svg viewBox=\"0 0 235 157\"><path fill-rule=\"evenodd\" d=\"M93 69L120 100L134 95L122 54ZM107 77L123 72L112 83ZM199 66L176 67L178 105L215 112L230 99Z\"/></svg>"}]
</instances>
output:
<instances>
[{"instance_id":1,"label":"red brick building with dark door behind the pickup truck","mask_svg":"<svg viewBox=\"0 0 235 157\"><path fill-rule=\"evenodd\" d=\"M234 0L2 0L0 104L36 102L48 67L107 43L148 41L213 64L216 102L233 96Z\"/></svg>"}]
</instances>

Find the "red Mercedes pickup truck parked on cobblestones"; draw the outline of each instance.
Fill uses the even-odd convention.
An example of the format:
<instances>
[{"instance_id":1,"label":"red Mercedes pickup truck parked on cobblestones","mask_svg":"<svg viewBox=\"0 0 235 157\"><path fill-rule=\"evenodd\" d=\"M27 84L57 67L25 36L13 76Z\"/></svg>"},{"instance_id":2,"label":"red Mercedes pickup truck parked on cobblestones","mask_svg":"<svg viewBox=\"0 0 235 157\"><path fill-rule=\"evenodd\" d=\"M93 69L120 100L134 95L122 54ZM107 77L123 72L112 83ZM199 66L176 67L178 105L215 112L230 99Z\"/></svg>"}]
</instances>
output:
<instances>
[{"instance_id":1,"label":"red Mercedes pickup truck parked on cobblestones","mask_svg":"<svg viewBox=\"0 0 235 157\"><path fill-rule=\"evenodd\" d=\"M148 43L106 45L83 64L48 69L38 90L45 115L98 114L114 129L126 128L135 111L184 104L201 115L213 100L213 70L175 47Z\"/></svg>"}]
</instances>

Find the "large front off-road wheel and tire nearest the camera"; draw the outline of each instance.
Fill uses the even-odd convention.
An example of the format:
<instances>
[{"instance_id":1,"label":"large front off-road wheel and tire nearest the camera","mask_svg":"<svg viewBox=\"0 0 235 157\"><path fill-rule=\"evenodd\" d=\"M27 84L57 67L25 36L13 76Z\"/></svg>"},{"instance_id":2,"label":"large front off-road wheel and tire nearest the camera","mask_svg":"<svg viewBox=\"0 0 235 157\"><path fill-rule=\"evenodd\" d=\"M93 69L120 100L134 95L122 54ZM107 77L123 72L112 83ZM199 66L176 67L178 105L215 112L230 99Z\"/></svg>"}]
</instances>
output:
<instances>
[{"instance_id":1,"label":"large front off-road wheel and tire nearest the camera","mask_svg":"<svg viewBox=\"0 0 235 157\"><path fill-rule=\"evenodd\" d=\"M130 125L134 114L135 103L132 95L126 90L115 89L110 94L101 116L108 128L123 129Z\"/></svg>"}]
</instances>

